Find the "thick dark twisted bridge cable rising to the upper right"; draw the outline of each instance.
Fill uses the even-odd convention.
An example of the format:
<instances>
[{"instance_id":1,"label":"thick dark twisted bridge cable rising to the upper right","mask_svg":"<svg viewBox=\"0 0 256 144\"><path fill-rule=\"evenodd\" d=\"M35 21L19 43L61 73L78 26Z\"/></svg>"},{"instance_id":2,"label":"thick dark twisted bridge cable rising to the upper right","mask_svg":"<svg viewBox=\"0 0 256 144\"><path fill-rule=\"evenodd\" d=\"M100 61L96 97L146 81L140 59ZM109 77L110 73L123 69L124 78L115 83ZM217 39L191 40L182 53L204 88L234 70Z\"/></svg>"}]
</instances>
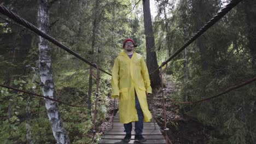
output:
<instances>
[{"instance_id":1,"label":"thick dark twisted bridge cable rising to the upper right","mask_svg":"<svg viewBox=\"0 0 256 144\"><path fill-rule=\"evenodd\" d=\"M157 69L155 69L150 75L154 74L157 70L159 70L162 66L164 66L165 64L167 64L168 62L170 62L174 57L176 57L179 53L181 53L187 46L189 46L191 43L193 43L193 41L195 41L197 38L200 37L200 35L202 35L203 33L205 33L210 27L212 27L216 22L218 22L223 16L225 16L232 8L234 8L238 3L240 3L242 0L232 0L230 1L229 4L226 5L225 8L223 8L222 10L220 10L220 12L215 15L210 21L208 21L207 23L205 23L205 25L203 25L201 27L201 29L199 29L199 31L197 31L194 35L192 35L192 37L177 51L175 52L170 58L168 58L165 62L163 62L160 67L158 67Z\"/></svg>"}]
</instances>

